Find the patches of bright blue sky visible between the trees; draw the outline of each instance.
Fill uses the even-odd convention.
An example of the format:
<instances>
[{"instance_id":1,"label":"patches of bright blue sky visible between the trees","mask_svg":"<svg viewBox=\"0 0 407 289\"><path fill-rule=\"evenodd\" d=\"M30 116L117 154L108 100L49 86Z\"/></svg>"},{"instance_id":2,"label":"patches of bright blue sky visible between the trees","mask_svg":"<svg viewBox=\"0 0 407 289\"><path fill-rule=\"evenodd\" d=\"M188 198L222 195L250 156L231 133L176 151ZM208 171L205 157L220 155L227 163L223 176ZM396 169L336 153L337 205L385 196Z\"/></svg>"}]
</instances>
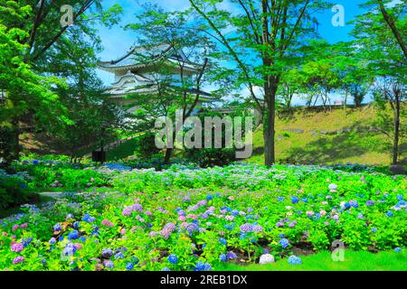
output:
<instances>
[{"instance_id":1,"label":"patches of bright blue sky visible between the trees","mask_svg":"<svg viewBox=\"0 0 407 289\"><path fill-rule=\"evenodd\" d=\"M102 61L111 61L118 59L124 55L129 47L135 43L135 34L131 31L125 31L122 26L128 23L134 23L136 21L134 15L137 11L140 11L140 1L143 0L109 0L105 1L104 5L119 4L123 7L123 14L121 16L121 23L115 25L111 29L106 27L99 28L99 35L102 40L104 51L99 53L99 58ZM179 10L189 7L188 0L149 0L151 3L158 4L166 10ZM143 1L145 2L145 1ZM332 12L331 9L326 10L322 14L316 14L319 22L318 31L323 38L328 42L340 42L349 40L348 33L352 30L352 25L348 22L355 18L355 15L363 13L363 10L358 7L359 4L364 3L364 0L330 0L328 1L333 5L343 5L345 8L345 26L334 26L332 24L332 17L336 12ZM232 5L225 6L233 9ZM109 86L113 82L113 76L109 72L98 70L100 79L103 80L106 86ZM337 94L332 95L333 100L339 100L341 97ZM299 98L294 99L294 104L303 104L303 101Z\"/></svg>"}]
</instances>

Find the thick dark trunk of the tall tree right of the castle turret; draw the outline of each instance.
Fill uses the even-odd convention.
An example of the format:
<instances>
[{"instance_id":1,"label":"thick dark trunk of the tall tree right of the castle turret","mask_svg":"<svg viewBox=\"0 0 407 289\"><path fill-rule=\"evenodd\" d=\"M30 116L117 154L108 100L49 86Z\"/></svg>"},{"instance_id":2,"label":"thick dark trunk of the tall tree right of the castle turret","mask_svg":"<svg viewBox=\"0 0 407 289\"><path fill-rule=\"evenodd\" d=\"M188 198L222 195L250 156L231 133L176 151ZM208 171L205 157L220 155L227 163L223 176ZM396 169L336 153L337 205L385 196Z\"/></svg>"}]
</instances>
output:
<instances>
[{"instance_id":1,"label":"thick dark trunk of the tall tree right of the castle turret","mask_svg":"<svg viewBox=\"0 0 407 289\"><path fill-rule=\"evenodd\" d=\"M267 166L276 162L274 135L275 135L275 121L276 121L276 93L277 83L272 83L271 86L264 87L264 97L266 100L266 116L263 125L263 138L264 138L264 159Z\"/></svg>"}]
</instances>

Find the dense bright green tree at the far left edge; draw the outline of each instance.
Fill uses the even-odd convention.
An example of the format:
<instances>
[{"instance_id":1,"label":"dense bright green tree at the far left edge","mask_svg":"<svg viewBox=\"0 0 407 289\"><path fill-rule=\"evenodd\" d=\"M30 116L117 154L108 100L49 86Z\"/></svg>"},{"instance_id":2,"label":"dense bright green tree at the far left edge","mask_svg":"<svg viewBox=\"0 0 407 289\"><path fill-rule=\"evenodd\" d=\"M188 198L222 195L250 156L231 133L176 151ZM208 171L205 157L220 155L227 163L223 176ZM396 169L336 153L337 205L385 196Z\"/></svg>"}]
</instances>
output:
<instances>
[{"instance_id":1,"label":"dense bright green tree at the far left edge","mask_svg":"<svg viewBox=\"0 0 407 289\"><path fill-rule=\"evenodd\" d=\"M2 59L14 60L14 63L5 63L11 71L8 74L2 73L3 82L0 82L0 88L6 91L7 96L7 105L2 111L2 116L14 130L16 145L11 158L18 157L19 153L21 117L33 115L33 123L42 127L59 126L63 129L65 125L71 124L66 115L68 110L62 105L60 98L52 92L66 86L65 81L56 78L56 74L52 74L51 71L58 70L52 67L53 59L66 55L65 51L58 51L55 44L67 42L68 37L65 36L72 30L76 30L77 37L88 37L92 31L91 26L95 23L106 25L117 23L121 8L114 5L104 10L100 3L101 1L96 0L1 1L0 24L4 33L11 37L11 41L2 42L2 53L5 56ZM74 26L61 26L62 5L73 7ZM13 54L7 55L7 51ZM59 68L61 71L65 69L63 65ZM28 77L33 80L27 81ZM8 80L5 81L6 78ZM37 86L33 87L33 84Z\"/></svg>"}]
</instances>

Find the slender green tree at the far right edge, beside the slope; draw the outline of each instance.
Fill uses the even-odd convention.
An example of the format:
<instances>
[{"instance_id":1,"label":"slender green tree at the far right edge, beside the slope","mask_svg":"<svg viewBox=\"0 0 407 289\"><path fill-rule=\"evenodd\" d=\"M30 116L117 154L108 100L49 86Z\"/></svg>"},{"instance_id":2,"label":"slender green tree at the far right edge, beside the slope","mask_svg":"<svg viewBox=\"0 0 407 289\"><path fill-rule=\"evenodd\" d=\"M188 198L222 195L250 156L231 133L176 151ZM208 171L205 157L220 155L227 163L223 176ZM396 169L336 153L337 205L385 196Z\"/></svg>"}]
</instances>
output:
<instances>
[{"instance_id":1,"label":"slender green tree at the far right edge, beside the slope","mask_svg":"<svg viewBox=\"0 0 407 289\"><path fill-rule=\"evenodd\" d=\"M406 33L396 33L394 29L407 31L406 5L402 1L385 7L382 1L367 1L363 6L367 12L355 20L353 35L358 53L367 61L366 70L374 78L376 103L386 103L392 108L392 115L380 110L378 117L382 119L383 132L393 138L392 163L397 164L400 134L405 126L401 124L401 114L402 101L406 98L407 58L402 48ZM389 122L393 123L392 132L386 125Z\"/></svg>"}]
</instances>

